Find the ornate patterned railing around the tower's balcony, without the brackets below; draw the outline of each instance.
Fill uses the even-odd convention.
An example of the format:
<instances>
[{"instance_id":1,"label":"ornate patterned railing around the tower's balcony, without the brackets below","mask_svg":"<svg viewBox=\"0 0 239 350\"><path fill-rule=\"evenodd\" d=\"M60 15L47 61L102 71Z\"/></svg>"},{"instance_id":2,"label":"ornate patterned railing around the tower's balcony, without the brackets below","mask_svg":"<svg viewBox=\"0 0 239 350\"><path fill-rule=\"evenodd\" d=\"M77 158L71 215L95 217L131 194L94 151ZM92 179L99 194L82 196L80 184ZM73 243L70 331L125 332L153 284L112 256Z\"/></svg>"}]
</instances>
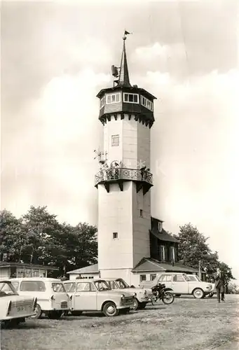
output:
<instances>
[{"instance_id":1,"label":"ornate patterned railing around the tower's balcony, without the brackets below","mask_svg":"<svg viewBox=\"0 0 239 350\"><path fill-rule=\"evenodd\" d=\"M144 181L153 185L153 175L146 170L109 168L102 169L95 175L95 186L104 181L114 182L117 180Z\"/></svg>"}]
</instances>

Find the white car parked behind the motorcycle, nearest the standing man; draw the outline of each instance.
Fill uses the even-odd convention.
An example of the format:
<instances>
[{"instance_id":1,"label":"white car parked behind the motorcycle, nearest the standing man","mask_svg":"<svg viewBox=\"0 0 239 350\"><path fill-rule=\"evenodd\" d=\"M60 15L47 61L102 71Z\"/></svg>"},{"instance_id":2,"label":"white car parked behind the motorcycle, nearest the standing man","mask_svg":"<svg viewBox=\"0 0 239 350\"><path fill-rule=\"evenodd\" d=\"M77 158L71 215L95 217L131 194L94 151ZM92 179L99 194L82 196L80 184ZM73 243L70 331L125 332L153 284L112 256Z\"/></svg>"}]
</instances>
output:
<instances>
[{"instance_id":1,"label":"white car parked behind the motorcycle, nearest the standing man","mask_svg":"<svg viewBox=\"0 0 239 350\"><path fill-rule=\"evenodd\" d=\"M164 283L168 288L172 288L175 295L193 295L196 299L201 299L212 292L212 283L193 282L189 280L186 274L179 272L164 272L157 275L153 281L144 281L139 286L150 288L158 282Z\"/></svg>"}]
</instances>

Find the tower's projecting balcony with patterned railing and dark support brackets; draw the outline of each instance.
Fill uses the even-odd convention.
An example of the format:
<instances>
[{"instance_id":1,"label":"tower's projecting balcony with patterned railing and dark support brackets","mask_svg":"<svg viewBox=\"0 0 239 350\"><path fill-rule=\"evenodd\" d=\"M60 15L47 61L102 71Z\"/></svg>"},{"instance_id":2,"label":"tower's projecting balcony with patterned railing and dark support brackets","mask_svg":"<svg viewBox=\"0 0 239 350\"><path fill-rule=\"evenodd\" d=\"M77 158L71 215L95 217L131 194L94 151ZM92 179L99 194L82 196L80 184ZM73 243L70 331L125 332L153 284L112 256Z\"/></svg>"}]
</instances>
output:
<instances>
[{"instance_id":1,"label":"tower's projecting balcony with patterned railing and dark support brackets","mask_svg":"<svg viewBox=\"0 0 239 350\"><path fill-rule=\"evenodd\" d=\"M143 190L147 193L151 186L153 186L153 175L144 169L128 169L128 168L109 168L102 169L95 175L95 187L104 185L109 193L109 186L112 183L118 183L119 188L123 191L123 183L125 181L133 181L136 183L137 193Z\"/></svg>"}]
</instances>

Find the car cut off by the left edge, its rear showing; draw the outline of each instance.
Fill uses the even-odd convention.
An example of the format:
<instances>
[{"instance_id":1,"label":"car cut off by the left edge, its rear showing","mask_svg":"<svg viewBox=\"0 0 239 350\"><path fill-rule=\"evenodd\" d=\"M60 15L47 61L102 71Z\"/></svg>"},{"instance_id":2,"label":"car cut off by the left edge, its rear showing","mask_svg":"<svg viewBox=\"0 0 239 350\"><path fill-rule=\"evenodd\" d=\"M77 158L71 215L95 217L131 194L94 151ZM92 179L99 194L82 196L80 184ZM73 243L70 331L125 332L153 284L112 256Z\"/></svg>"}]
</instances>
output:
<instances>
[{"instance_id":1,"label":"car cut off by the left edge, its rear showing","mask_svg":"<svg viewBox=\"0 0 239 350\"><path fill-rule=\"evenodd\" d=\"M18 325L25 317L33 316L36 297L18 295L10 281L0 281L0 321L6 326Z\"/></svg>"}]
</instances>

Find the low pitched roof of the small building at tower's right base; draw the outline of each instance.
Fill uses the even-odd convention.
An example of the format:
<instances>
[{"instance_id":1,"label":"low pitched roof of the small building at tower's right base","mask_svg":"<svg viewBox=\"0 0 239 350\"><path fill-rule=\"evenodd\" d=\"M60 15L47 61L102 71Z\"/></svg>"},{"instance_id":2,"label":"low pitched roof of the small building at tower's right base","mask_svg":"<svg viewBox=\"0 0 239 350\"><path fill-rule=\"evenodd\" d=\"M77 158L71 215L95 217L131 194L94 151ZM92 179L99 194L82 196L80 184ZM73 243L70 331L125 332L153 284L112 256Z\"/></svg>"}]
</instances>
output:
<instances>
[{"instance_id":1,"label":"low pitched roof of the small building at tower's right base","mask_svg":"<svg viewBox=\"0 0 239 350\"><path fill-rule=\"evenodd\" d=\"M175 262L174 265L153 258L143 258L132 272L198 272L198 269Z\"/></svg>"}]
</instances>

